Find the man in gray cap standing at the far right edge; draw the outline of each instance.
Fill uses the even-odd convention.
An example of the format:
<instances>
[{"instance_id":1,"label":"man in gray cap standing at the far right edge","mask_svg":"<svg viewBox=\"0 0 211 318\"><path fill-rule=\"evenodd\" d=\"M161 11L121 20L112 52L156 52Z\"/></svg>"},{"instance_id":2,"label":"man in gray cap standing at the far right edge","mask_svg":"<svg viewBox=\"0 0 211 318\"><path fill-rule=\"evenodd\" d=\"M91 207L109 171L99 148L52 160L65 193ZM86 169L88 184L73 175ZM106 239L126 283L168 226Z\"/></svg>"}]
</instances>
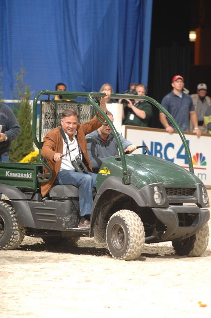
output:
<instances>
[{"instance_id":1,"label":"man in gray cap standing at the far right edge","mask_svg":"<svg viewBox=\"0 0 211 318\"><path fill-rule=\"evenodd\" d=\"M207 132L207 128L204 124L204 116L208 107L211 105L211 98L207 96L207 90L207 85L205 83L200 83L197 86L197 94L191 95L194 107L197 112L198 127L202 131L202 133Z\"/></svg>"}]
</instances>

